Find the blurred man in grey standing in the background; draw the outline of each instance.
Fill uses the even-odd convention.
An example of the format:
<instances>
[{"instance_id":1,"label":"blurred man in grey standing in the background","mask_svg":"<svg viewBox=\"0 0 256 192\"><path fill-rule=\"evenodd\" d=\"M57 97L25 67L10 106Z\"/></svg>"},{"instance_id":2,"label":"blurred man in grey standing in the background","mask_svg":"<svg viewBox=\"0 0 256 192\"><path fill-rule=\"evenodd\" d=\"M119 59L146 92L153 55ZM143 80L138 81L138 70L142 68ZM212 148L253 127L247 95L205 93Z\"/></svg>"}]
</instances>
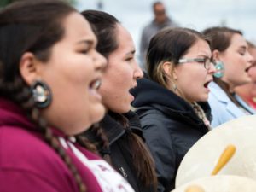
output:
<instances>
[{"instance_id":1,"label":"blurred man in grey standing in the background","mask_svg":"<svg viewBox=\"0 0 256 192\"><path fill-rule=\"evenodd\" d=\"M140 61L141 67L146 69L146 53L150 39L161 29L172 26L177 26L170 17L166 15L166 8L164 3L157 1L152 6L154 12L154 20L152 20L147 26L143 28L141 42L140 42Z\"/></svg>"}]
</instances>

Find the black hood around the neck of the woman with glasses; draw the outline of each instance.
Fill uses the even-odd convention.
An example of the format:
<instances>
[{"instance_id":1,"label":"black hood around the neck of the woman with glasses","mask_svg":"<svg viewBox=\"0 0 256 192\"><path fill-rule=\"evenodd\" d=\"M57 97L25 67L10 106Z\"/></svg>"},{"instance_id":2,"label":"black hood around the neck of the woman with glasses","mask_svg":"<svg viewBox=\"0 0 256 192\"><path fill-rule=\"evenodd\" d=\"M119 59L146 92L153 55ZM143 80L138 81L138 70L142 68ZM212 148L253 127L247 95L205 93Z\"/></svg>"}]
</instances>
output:
<instances>
[{"instance_id":1,"label":"black hood around the neck of the woman with glasses","mask_svg":"<svg viewBox=\"0 0 256 192\"><path fill-rule=\"evenodd\" d=\"M135 96L132 106L137 108L137 113L147 113L149 108L155 108L175 119L186 121L190 125L203 125L203 122L196 115L194 109L188 102L177 96L171 90L167 90L160 84L150 79L138 79L137 87L131 91ZM211 108L207 102L198 102L211 121Z\"/></svg>"}]
</instances>

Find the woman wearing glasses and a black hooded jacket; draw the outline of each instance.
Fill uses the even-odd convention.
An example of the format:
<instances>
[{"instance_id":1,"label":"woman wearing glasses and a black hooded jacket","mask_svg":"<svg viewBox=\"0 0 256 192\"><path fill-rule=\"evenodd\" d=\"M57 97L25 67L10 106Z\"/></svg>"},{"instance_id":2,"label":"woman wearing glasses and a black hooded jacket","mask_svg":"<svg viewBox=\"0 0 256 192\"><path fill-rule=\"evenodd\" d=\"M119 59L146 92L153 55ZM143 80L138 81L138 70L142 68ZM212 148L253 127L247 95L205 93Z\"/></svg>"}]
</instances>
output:
<instances>
[{"instance_id":1,"label":"woman wearing glasses and a black hooded jacket","mask_svg":"<svg viewBox=\"0 0 256 192\"><path fill-rule=\"evenodd\" d=\"M167 28L151 39L148 79L133 90L143 136L153 154L158 191L174 188L177 168L189 148L210 128L208 84L216 72L200 32Z\"/></svg>"}]
</instances>

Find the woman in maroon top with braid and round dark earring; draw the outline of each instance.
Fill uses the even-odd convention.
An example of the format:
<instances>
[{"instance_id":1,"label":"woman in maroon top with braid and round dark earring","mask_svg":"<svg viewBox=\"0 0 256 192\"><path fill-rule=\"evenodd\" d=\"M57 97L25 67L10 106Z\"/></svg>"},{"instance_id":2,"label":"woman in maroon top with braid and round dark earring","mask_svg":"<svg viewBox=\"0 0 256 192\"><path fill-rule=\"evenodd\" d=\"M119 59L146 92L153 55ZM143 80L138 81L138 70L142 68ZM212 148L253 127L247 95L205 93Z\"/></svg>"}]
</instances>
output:
<instances>
[{"instance_id":1,"label":"woman in maroon top with braid and round dark earring","mask_svg":"<svg viewBox=\"0 0 256 192\"><path fill-rule=\"evenodd\" d=\"M62 1L19 1L0 11L0 42L0 191L133 192L73 137L105 113L88 21Z\"/></svg>"}]
</instances>

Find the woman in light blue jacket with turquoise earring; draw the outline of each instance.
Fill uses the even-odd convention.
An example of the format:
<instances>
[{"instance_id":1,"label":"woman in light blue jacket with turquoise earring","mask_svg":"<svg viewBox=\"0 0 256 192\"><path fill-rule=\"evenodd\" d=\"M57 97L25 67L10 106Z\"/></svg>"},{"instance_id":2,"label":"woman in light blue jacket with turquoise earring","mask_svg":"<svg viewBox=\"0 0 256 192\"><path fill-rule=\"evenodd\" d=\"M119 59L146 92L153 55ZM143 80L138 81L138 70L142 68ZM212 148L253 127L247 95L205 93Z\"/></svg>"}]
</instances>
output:
<instances>
[{"instance_id":1,"label":"woman in light blue jacket with turquoise earring","mask_svg":"<svg viewBox=\"0 0 256 192\"><path fill-rule=\"evenodd\" d=\"M224 73L214 78L209 85L209 104L212 108L212 126L218 126L230 119L253 114L235 93L235 88L252 80L248 69L253 64L253 56L248 52L246 39L242 32L229 27L211 27L204 32L210 39L212 58L216 66L222 66Z\"/></svg>"}]
</instances>

